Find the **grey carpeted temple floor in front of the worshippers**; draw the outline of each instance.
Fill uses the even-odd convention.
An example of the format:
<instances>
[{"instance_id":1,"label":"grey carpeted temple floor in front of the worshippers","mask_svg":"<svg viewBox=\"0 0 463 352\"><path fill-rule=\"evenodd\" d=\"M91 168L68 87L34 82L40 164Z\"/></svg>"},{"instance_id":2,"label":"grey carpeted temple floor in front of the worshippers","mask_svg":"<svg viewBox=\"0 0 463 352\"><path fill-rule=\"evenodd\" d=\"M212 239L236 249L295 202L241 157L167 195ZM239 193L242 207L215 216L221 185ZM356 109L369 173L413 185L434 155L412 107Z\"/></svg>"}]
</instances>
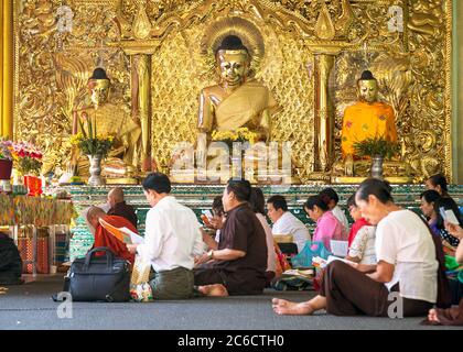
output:
<instances>
[{"instance_id":1,"label":"grey carpeted temple floor in front of the worshippers","mask_svg":"<svg viewBox=\"0 0 463 352\"><path fill-rule=\"evenodd\" d=\"M426 327L422 318L388 319L335 317L319 312L312 317L277 316L271 298L294 301L313 297L313 292L276 292L260 296L193 298L150 304L74 302L73 318L57 318L58 302L51 295L62 288L63 274L26 277L0 296L0 330L456 330L463 327Z\"/></svg>"}]
</instances>

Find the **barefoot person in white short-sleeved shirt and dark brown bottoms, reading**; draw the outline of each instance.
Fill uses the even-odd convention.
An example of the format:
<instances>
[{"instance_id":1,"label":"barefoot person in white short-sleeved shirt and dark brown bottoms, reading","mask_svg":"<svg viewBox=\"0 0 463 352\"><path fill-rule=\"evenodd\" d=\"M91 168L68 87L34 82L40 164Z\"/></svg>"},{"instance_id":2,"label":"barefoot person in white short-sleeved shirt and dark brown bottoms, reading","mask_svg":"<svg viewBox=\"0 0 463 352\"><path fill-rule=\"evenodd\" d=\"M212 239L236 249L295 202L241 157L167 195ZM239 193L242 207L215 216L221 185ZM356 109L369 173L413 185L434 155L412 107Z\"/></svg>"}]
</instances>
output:
<instances>
[{"instance_id":1,"label":"barefoot person in white short-sleeved shirt and dark brown bottoms, reading","mask_svg":"<svg viewBox=\"0 0 463 352\"><path fill-rule=\"evenodd\" d=\"M399 293L403 317L426 316L437 301L444 305L445 277L438 287L438 270L440 277L444 271L442 246L418 215L394 204L390 193L388 183L369 178L355 198L365 219L377 226L377 265L333 261L316 297L304 302L273 298L274 312L312 315L326 309L336 316L387 317L389 306L397 305L397 299L389 300L390 292Z\"/></svg>"}]
</instances>

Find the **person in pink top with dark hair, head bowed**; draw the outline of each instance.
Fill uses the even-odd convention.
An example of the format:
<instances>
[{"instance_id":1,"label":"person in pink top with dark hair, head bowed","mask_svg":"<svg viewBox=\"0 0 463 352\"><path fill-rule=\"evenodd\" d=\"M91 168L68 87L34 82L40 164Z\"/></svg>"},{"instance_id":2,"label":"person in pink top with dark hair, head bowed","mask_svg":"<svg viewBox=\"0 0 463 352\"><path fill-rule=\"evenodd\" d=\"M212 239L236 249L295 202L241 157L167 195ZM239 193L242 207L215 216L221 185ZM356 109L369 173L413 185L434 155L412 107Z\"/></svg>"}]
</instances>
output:
<instances>
[{"instance_id":1,"label":"person in pink top with dark hair, head bowed","mask_svg":"<svg viewBox=\"0 0 463 352\"><path fill-rule=\"evenodd\" d=\"M304 204L308 216L316 222L312 241L323 242L326 250L331 251L331 240L347 241L344 226L329 208L326 196L311 196Z\"/></svg>"}]
</instances>

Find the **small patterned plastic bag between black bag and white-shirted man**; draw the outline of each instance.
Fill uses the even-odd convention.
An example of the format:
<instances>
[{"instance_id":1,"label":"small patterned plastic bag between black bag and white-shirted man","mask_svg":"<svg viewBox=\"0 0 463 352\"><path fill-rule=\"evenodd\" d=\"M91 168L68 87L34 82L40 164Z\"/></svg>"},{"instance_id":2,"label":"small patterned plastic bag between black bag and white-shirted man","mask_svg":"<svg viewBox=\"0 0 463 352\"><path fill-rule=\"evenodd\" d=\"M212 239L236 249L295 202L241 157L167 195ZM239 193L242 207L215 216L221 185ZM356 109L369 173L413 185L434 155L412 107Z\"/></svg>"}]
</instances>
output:
<instances>
[{"instance_id":1,"label":"small patterned plastic bag between black bag and white-shirted man","mask_svg":"<svg viewBox=\"0 0 463 352\"><path fill-rule=\"evenodd\" d=\"M153 293L150 286L151 263L136 256L132 276L130 277L130 296L134 301L152 301Z\"/></svg>"}]
</instances>

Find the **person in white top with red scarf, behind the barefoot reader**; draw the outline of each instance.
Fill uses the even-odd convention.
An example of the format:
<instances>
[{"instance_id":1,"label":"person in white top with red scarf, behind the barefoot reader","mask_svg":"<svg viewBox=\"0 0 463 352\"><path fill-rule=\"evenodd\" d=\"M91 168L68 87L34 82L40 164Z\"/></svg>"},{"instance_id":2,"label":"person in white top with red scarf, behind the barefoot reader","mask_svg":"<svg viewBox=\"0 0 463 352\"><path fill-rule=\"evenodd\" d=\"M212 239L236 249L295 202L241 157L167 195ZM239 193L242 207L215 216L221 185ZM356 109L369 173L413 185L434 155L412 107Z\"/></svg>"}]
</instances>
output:
<instances>
[{"instance_id":1,"label":"person in white top with red scarf, behind the barefoot reader","mask_svg":"<svg viewBox=\"0 0 463 352\"><path fill-rule=\"evenodd\" d=\"M347 199L347 207L354 224L351 229L348 253L345 258L359 264L376 264L376 227L362 217L362 211L355 204L355 194Z\"/></svg>"}]
</instances>

